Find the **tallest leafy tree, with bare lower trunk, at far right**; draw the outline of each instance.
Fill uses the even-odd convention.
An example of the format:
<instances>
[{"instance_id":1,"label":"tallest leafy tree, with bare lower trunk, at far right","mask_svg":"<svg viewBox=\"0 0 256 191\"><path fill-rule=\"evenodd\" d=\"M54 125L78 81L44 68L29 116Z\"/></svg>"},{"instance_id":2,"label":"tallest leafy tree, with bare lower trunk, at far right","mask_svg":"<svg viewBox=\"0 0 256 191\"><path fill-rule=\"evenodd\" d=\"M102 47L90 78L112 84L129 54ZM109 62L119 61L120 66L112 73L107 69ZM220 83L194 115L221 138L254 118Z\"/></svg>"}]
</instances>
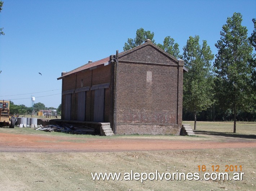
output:
<instances>
[{"instance_id":1,"label":"tallest leafy tree, with bare lower trunk, at far right","mask_svg":"<svg viewBox=\"0 0 256 191\"><path fill-rule=\"evenodd\" d=\"M231 108L236 132L237 111L248 111L255 103L252 90L252 46L247 38L247 28L241 25L242 15L234 13L222 26L214 66L217 68L219 103L224 108Z\"/></svg>"}]
</instances>

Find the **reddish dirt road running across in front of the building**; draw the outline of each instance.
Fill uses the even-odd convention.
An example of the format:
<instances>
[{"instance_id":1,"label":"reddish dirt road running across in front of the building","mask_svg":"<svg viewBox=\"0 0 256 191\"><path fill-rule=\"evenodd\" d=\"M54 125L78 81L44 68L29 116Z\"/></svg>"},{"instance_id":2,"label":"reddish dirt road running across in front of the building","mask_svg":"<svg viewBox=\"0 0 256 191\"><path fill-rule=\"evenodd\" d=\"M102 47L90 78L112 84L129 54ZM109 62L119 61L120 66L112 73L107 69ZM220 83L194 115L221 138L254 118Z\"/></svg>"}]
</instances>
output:
<instances>
[{"instance_id":1,"label":"reddish dirt road running across in front of the building","mask_svg":"<svg viewBox=\"0 0 256 191\"><path fill-rule=\"evenodd\" d=\"M255 139L174 141L154 138L74 138L0 133L0 152L116 152L174 149L256 148Z\"/></svg>"}]
</instances>

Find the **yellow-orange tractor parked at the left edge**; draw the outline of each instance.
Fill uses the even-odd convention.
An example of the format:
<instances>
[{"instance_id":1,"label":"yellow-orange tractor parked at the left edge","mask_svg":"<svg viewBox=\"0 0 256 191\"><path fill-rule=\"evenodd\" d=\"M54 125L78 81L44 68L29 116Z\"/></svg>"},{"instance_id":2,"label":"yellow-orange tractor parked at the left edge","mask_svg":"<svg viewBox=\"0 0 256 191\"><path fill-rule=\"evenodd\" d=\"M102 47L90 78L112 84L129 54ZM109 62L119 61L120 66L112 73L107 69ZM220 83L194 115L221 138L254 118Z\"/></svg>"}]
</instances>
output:
<instances>
[{"instance_id":1,"label":"yellow-orange tractor parked at the left edge","mask_svg":"<svg viewBox=\"0 0 256 191\"><path fill-rule=\"evenodd\" d=\"M10 117L10 101L0 100L0 126L14 128L15 120Z\"/></svg>"}]
</instances>

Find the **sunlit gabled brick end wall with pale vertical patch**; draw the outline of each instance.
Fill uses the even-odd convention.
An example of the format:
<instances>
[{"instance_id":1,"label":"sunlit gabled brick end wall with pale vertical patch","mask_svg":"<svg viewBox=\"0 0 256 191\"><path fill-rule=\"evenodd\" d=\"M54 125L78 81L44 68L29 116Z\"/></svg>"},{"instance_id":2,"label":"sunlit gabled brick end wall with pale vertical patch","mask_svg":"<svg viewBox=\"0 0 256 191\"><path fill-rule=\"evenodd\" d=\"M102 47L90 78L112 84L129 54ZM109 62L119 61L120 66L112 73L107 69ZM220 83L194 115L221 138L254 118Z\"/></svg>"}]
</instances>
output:
<instances>
[{"instance_id":1,"label":"sunlit gabled brick end wall with pale vertical patch","mask_svg":"<svg viewBox=\"0 0 256 191\"><path fill-rule=\"evenodd\" d=\"M118 67L116 133L179 134L183 67L153 46L120 57Z\"/></svg>"}]
</instances>

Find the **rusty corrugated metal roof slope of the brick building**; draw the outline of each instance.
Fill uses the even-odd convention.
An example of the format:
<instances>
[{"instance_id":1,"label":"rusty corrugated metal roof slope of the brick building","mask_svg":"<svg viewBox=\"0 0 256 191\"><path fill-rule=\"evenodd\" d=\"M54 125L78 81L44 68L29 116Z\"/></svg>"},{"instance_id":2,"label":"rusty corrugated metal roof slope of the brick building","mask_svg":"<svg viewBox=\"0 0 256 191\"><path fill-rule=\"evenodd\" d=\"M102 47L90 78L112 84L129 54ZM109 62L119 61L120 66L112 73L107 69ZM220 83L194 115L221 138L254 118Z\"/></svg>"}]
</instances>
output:
<instances>
[{"instance_id":1,"label":"rusty corrugated metal roof slope of the brick building","mask_svg":"<svg viewBox=\"0 0 256 191\"><path fill-rule=\"evenodd\" d=\"M108 64L109 64L109 57L106 57L105 59L101 59L101 60L98 60L98 61L95 61L95 62L87 63L87 64L85 64L85 65L83 65L83 66L80 66L80 67L74 69L74 70L71 70L71 71L67 72L66 74L64 74L63 76L61 76L61 77L59 77L59 78L57 78L57 79L58 79L58 80L59 80L59 79L62 79L62 78L64 78L65 76L68 76L68 75L70 75L70 74L74 74L74 73L79 72L79 71L82 71L82 70L94 69L94 68L96 68L96 67L99 66L99 65L104 65L104 66L106 66L106 65L108 65Z\"/></svg>"}]
</instances>

